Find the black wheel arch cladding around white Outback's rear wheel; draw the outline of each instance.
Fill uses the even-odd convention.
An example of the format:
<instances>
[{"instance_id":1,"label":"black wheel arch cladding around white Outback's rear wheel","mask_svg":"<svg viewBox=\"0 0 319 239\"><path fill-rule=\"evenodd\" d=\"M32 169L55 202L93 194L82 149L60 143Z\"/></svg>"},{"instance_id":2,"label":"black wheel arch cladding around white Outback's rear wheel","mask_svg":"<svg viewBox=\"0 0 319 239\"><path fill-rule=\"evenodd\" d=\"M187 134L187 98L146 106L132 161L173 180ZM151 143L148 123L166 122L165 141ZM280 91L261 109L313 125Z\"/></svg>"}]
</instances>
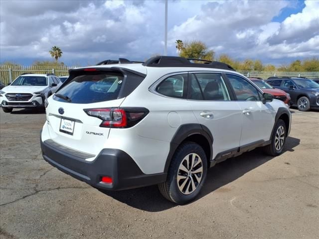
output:
<instances>
[{"instance_id":1,"label":"black wheel arch cladding around white Outback's rear wheel","mask_svg":"<svg viewBox=\"0 0 319 239\"><path fill-rule=\"evenodd\" d=\"M188 123L180 125L170 141L164 172L168 171L170 161L174 156L177 147L185 141L198 143L204 149L209 167L209 162L213 155L213 136L205 125Z\"/></svg>"}]
</instances>

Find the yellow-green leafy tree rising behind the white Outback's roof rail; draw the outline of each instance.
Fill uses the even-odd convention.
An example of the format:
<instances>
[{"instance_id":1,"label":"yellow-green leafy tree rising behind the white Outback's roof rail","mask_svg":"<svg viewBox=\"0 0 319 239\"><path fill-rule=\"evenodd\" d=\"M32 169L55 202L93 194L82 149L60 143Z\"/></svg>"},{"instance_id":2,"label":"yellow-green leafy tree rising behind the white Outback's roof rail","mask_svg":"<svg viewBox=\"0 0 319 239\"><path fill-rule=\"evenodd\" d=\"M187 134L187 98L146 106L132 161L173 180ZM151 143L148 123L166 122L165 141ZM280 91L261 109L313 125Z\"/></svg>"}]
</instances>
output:
<instances>
[{"instance_id":1,"label":"yellow-green leafy tree rising behind the white Outback's roof rail","mask_svg":"<svg viewBox=\"0 0 319 239\"><path fill-rule=\"evenodd\" d=\"M201 41L192 41L190 43L183 43L179 56L212 61L214 59L215 52L213 50L209 50L205 43Z\"/></svg>"}]
</instances>

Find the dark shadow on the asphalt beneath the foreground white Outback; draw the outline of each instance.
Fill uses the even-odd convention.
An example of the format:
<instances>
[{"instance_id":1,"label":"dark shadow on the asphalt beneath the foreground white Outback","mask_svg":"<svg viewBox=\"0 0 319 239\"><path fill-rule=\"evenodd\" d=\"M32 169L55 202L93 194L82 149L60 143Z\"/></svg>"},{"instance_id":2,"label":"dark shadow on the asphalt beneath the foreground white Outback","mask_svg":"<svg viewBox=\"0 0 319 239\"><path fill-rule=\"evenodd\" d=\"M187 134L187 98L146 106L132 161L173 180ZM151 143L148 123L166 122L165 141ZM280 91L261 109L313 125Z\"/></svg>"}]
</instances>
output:
<instances>
[{"instance_id":1,"label":"dark shadow on the asphalt beneath the foreground white Outback","mask_svg":"<svg viewBox=\"0 0 319 239\"><path fill-rule=\"evenodd\" d=\"M289 136L283 153L294 151L294 148L299 144L300 139ZM200 198L236 180L273 158L275 157L267 156L261 148L257 148L238 157L230 158L216 164L214 167L208 169L206 181L196 200L200 200ZM102 192L131 207L148 212L160 212L177 206L163 198L156 185L124 191L102 190Z\"/></svg>"}]
</instances>

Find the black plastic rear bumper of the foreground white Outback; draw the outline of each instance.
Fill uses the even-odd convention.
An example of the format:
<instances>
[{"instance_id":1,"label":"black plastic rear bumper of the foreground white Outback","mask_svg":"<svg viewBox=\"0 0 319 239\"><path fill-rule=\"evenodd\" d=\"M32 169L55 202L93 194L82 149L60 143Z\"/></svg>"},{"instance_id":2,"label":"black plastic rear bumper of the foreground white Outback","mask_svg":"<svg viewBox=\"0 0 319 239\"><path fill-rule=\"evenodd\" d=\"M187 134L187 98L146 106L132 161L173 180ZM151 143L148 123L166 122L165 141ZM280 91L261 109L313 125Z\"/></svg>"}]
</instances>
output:
<instances>
[{"instance_id":1,"label":"black plastic rear bumper of the foreground white Outback","mask_svg":"<svg viewBox=\"0 0 319 239\"><path fill-rule=\"evenodd\" d=\"M52 140L41 139L45 161L72 177L93 187L107 190L123 190L162 183L166 173L144 174L126 152L119 149L103 149L93 161L85 153L59 145ZM91 155L94 156L94 155ZM102 177L112 178L112 183L101 182Z\"/></svg>"}]
</instances>

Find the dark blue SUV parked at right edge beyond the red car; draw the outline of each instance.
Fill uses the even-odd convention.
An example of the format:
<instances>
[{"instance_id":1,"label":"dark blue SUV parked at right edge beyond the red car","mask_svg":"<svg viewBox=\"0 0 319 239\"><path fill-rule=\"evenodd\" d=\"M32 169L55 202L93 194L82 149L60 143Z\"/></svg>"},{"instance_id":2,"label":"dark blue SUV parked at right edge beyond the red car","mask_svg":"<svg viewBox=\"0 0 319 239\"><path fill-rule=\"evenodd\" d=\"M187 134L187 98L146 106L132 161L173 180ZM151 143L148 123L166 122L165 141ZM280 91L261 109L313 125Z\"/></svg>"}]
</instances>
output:
<instances>
[{"instance_id":1,"label":"dark blue SUV parked at right edge beyond the red car","mask_svg":"<svg viewBox=\"0 0 319 239\"><path fill-rule=\"evenodd\" d=\"M300 111L319 107L319 84L307 78L270 77L266 81L271 86L290 94L291 104Z\"/></svg>"}]
</instances>

